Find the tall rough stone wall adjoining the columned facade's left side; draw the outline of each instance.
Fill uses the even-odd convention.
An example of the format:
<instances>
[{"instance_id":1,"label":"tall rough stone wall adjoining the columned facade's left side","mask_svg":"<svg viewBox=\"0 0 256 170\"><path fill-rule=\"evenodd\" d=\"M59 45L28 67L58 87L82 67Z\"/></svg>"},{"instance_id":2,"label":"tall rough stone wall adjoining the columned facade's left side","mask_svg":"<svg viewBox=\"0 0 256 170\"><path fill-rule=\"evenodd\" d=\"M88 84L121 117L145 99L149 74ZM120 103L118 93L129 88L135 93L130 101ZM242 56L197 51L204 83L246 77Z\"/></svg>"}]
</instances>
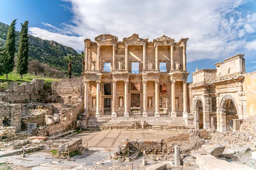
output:
<instances>
[{"instance_id":1,"label":"tall rough stone wall adjoining the columned facade's left side","mask_svg":"<svg viewBox=\"0 0 256 170\"><path fill-rule=\"evenodd\" d=\"M82 102L83 77L52 82L52 98L56 103L77 104Z\"/></svg>"}]
</instances>

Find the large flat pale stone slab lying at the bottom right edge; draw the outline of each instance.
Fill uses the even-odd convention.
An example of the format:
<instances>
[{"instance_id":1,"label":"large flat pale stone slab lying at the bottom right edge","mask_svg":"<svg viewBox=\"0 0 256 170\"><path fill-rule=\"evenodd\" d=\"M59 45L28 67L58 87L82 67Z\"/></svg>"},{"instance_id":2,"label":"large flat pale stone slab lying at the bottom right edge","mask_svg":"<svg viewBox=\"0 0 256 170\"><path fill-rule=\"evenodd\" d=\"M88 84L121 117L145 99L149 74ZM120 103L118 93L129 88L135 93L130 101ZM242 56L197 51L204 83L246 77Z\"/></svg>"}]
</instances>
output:
<instances>
[{"instance_id":1,"label":"large flat pale stone slab lying at the bottom right edge","mask_svg":"<svg viewBox=\"0 0 256 170\"><path fill-rule=\"evenodd\" d=\"M254 170L253 168L237 163L230 163L217 159L212 155L202 155L196 158L196 163L201 170Z\"/></svg>"}]
</instances>

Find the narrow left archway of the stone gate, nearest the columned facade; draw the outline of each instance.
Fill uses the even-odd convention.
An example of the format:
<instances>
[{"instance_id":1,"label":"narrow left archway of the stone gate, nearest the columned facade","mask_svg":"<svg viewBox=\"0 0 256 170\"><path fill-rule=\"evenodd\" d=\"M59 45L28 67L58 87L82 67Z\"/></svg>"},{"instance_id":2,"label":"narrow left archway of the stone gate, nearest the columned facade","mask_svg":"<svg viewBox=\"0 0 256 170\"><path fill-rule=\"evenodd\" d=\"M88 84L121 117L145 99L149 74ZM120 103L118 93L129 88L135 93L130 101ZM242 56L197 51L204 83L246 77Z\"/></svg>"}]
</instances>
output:
<instances>
[{"instance_id":1,"label":"narrow left archway of the stone gate, nearest the columned facade","mask_svg":"<svg viewBox=\"0 0 256 170\"><path fill-rule=\"evenodd\" d=\"M196 127L199 129L204 128L204 108L201 97L195 99L195 121Z\"/></svg>"}]
</instances>

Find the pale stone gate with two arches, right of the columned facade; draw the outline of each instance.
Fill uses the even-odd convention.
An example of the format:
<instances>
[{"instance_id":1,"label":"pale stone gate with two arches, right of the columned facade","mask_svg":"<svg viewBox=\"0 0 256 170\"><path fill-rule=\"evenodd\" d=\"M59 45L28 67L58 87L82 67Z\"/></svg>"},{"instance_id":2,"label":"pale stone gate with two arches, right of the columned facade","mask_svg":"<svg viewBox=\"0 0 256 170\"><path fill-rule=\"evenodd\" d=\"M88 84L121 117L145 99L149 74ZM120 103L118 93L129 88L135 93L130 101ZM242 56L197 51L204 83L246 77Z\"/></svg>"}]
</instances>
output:
<instances>
[{"instance_id":1,"label":"pale stone gate with two arches, right of the columned facade","mask_svg":"<svg viewBox=\"0 0 256 170\"><path fill-rule=\"evenodd\" d=\"M240 120L255 115L253 81L256 72L245 73L244 54L237 54L215 66L216 69L197 69L192 74L193 83L189 87L195 127L214 127L220 132L237 130Z\"/></svg>"}]
</instances>

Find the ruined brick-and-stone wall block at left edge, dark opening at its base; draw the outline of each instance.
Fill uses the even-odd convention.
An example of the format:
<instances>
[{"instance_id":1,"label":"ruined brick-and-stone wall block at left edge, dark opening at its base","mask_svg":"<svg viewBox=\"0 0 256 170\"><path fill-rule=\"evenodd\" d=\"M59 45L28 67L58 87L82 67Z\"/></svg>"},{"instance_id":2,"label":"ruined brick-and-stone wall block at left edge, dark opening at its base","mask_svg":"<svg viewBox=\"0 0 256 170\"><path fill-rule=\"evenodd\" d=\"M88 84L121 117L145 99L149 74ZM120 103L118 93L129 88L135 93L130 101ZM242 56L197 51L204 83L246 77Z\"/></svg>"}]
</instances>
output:
<instances>
[{"instance_id":1,"label":"ruined brick-and-stone wall block at left edge, dark opening at its base","mask_svg":"<svg viewBox=\"0 0 256 170\"><path fill-rule=\"evenodd\" d=\"M0 102L0 125L15 126L20 131L21 105Z\"/></svg>"}]
</instances>

